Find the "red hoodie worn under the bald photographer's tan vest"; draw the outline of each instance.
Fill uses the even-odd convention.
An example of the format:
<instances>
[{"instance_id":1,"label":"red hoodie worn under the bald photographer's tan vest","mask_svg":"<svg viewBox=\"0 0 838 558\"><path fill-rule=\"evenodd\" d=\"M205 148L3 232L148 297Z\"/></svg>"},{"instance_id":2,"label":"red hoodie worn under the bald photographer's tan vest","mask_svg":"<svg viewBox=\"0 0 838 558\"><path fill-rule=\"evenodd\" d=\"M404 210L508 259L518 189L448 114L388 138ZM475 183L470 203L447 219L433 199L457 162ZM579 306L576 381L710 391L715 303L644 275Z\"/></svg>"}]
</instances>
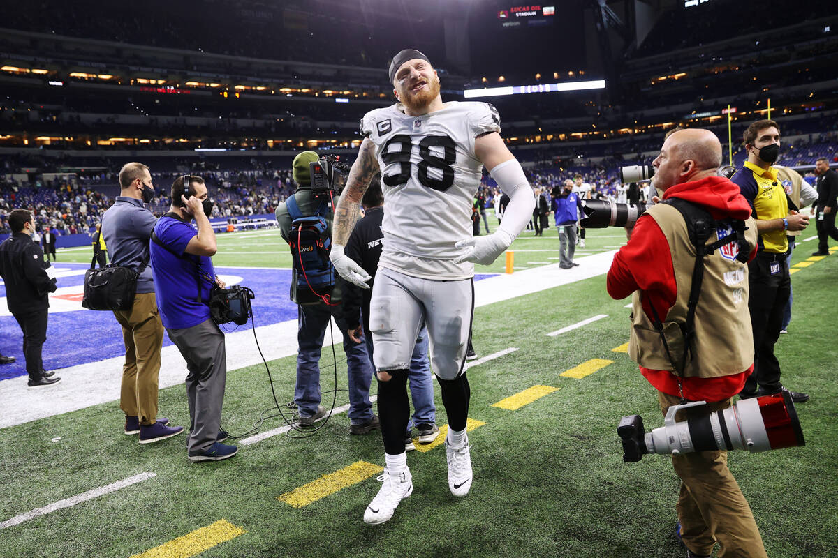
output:
<instances>
[{"instance_id":1,"label":"red hoodie worn under the bald photographer's tan vest","mask_svg":"<svg viewBox=\"0 0 838 558\"><path fill-rule=\"evenodd\" d=\"M745 220L751 216L751 207L742 197L739 187L724 177L708 177L670 187L664 199L678 197L701 205L715 219L731 217ZM756 255L756 248L751 258ZM649 304L660 316L665 316L678 294L675 271L672 269L670 245L658 223L647 215L634 225L629 243L614 254L608 271L608 294L614 299L624 299L635 290L642 290L646 315L651 316ZM746 370L730 376L715 378L685 378L684 397L690 401L716 402L736 395L745 385L753 364ZM675 372L649 370L640 366L640 372L660 392L679 397Z\"/></svg>"}]
</instances>

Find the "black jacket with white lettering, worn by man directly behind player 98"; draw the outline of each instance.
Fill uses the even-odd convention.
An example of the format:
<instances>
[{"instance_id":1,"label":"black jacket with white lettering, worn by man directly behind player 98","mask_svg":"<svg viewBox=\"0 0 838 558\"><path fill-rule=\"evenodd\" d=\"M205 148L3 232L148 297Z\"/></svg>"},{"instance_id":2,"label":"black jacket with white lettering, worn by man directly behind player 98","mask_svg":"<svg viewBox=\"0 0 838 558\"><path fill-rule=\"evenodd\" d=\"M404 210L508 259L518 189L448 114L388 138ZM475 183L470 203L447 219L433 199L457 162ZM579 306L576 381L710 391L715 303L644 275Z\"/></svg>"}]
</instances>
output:
<instances>
[{"instance_id":1,"label":"black jacket with white lettering, worn by man directly behind player 98","mask_svg":"<svg viewBox=\"0 0 838 558\"><path fill-rule=\"evenodd\" d=\"M344 281L343 285L344 319L354 329L361 323L360 314L363 309L365 332L370 330L370 299L375 271L378 270L378 260L381 258L381 242L384 240L384 233L381 232L383 219L384 207L368 209L364 218L355 224L344 249L344 253L372 278L370 289L360 289L349 281Z\"/></svg>"}]
</instances>

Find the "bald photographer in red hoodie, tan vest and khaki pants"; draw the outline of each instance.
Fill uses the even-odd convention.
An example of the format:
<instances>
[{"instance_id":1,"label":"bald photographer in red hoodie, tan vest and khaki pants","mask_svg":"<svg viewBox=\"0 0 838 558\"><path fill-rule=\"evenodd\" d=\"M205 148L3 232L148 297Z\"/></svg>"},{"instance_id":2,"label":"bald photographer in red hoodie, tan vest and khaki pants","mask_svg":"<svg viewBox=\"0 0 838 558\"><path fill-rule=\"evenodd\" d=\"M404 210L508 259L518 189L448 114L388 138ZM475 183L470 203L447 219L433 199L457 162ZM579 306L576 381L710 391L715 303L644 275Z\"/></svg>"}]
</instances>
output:
<instances>
[{"instance_id":1,"label":"bald photographer in red hoodie, tan vest and khaki pants","mask_svg":"<svg viewBox=\"0 0 838 558\"><path fill-rule=\"evenodd\" d=\"M735 240L703 258L706 273L695 312L696 337L689 345L691 358L679 358L685 351L681 327L689 322L685 316L696 248L690 225L675 207L684 202L667 200L691 202L684 203L687 209L709 213L712 219L747 220L745 238L752 257L756 244L756 225L747 200L735 184L716 176L721 162L722 146L710 131L681 130L667 137L653 163L653 183L665 190L664 202L649 207L638 219L629 243L620 248L608 271L608 294L623 299L634 293L629 354L658 390L664 413L682 397L707 402L696 413L730 407L753 370L747 268L735 259L736 248L742 249ZM726 236L723 230L719 236ZM710 242L716 238L711 234ZM677 366L677 361L685 366ZM682 410L676 419L693 412ZM677 533L687 555L710 556L718 542L720 554L765 558L751 509L727 468L727 453L682 453L672 457L672 464L682 481Z\"/></svg>"}]
</instances>

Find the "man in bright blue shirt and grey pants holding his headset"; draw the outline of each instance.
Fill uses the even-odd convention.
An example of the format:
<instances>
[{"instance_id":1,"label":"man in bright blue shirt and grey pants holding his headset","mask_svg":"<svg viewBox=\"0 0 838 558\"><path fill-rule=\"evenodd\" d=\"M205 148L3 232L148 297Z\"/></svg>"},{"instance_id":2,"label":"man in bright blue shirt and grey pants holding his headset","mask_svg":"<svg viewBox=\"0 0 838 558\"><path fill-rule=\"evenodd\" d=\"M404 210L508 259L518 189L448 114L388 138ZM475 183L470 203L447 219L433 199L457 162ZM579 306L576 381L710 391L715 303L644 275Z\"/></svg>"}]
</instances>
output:
<instances>
[{"instance_id":1,"label":"man in bright blue shirt and grey pants holding his headset","mask_svg":"<svg viewBox=\"0 0 838 558\"><path fill-rule=\"evenodd\" d=\"M209 297L214 284L222 289L225 284L215 276L210 259L216 252L208 218L213 204L201 177L178 177L171 197L172 206L152 233L154 285L163 327L189 370L189 460L218 461L233 457L238 448L221 443L227 438L220 428L227 356L224 333L209 314Z\"/></svg>"}]
</instances>

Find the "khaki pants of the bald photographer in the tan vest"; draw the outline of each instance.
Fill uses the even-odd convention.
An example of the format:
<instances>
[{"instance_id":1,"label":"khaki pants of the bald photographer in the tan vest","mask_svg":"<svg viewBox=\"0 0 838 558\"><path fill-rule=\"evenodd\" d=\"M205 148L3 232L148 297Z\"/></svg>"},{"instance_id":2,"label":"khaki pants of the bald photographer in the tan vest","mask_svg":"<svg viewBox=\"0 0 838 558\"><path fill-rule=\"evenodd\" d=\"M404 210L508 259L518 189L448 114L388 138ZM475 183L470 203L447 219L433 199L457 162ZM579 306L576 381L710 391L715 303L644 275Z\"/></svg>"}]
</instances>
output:
<instances>
[{"instance_id":1,"label":"khaki pants of the bald photographer in the tan vest","mask_svg":"<svg viewBox=\"0 0 838 558\"><path fill-rule=\"evenodd\" d=\"M660 409L677 405L680 399L658 392ZM706 415L726 409L732 399L682 409L677 420ZM719 543L719 558L768 558L753 520L751 507L736 479L727 468L727 452L683 453L672 456L675 473L681 479L676 509L681 524L681 538L694 554L711 555Z\"/></svg>"}]
</instances>

